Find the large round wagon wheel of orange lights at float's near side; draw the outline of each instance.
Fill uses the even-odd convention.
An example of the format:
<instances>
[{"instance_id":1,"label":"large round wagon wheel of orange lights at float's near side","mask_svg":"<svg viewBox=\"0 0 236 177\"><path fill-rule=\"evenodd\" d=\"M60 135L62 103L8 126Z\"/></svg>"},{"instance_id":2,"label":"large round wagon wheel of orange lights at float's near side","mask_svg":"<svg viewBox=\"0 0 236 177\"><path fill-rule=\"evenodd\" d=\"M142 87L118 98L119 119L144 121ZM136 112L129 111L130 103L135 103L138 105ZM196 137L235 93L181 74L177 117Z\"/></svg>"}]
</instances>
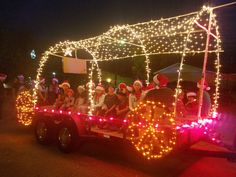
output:
<instances>
[{"instance_id":1,"label":"large round wagon wheel of orange lights at float's near side","mask_svg":"<svg viewBox=\"0 0 236 177\"><path fill-rule=\"evenodd\" d=\"M142 102L128 116L127 136L147 159L157 159L171 152L176 144L173 113L160 102Z\"/></svg>"}]
</instances>

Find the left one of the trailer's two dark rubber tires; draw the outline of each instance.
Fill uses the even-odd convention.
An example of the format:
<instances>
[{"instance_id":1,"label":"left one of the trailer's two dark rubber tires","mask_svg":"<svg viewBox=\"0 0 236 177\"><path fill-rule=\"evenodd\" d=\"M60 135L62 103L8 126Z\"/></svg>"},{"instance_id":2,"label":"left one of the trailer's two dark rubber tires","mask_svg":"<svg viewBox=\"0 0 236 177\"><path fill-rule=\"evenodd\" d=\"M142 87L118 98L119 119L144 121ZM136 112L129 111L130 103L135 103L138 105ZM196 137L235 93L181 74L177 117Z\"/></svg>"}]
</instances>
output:
<instances>
[{"instance_id":1,"label":"left one of the trailer's two dark rubber tires","mask_svg":"<svg viewBox=\"0 0 236 177\"><path fill-rule=\"evenodd\" d=\"M51 140L50 123L44 119L38 120L35 125L35 137L39 144L49 144Z\"/></svg>"}]
</instances>

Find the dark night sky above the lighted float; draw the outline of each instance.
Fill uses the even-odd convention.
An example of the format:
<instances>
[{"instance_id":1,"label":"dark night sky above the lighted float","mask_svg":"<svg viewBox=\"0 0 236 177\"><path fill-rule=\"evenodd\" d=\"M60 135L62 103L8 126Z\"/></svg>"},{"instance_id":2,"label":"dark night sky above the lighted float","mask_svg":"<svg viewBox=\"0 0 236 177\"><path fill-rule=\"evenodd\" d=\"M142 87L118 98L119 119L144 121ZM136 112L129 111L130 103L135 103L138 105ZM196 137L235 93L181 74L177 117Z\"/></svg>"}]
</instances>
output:
<instances>
[{"instance_id":1,"label":"dark night sky above the lighted float","mask_svg":"<svg viewBox=\"0 0 236 177\"><path fill-rule=\"evenodd\" d=\"M35 75L37 55L64 40L80 40L99 35L117 24L171 17L197 11L203 4L219 5L227 0L1 0L0 72L11 77L19 73ZM223 37L223 70L235 72L236 5L218 10Z\"/></svg>"}]
</instances>

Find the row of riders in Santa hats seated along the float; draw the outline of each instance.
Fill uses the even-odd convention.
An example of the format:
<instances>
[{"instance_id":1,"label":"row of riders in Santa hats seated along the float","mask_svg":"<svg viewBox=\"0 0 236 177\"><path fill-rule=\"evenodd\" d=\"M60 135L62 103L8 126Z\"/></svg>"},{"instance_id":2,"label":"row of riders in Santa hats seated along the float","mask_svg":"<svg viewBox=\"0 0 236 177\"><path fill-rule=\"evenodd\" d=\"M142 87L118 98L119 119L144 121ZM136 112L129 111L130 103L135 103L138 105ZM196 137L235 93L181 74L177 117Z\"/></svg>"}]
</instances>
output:
<instances>
[{"instance_id":1,"label":"row of riders in Santa hats seated along the float","mask_svg":"<svg viewBox=\"0 0 236 177\"><path fill-rule=\"evenodd\" d=\"M59 84L58 79L53 78L48 88L45 86L45 79L40 80L38 87L38 104L53 105L56 109L78 111L87 113L93 104L93 115L117 118L125 118L129 111L135 109L140 101L157 101L166 105L169 111L174 110L174 91L167 87L168 78L163 74L157 74L153 81L143 86L140 80L135 80L132 85L120 83L118 88L109 84L106 88L103 85L87 83L86 86L79 85L76 92L71 89L68 81ZM198 85L199 86L199 85ZM89 89L92 90L92 98L89 96ZM199 94L187 92L187 102L184 103L185 93L177 96L176 115L185 117L197 115L199 105ZM204 84L202 115L207 116L211 107L210 96Z\"/></svg>"}]
</instances>

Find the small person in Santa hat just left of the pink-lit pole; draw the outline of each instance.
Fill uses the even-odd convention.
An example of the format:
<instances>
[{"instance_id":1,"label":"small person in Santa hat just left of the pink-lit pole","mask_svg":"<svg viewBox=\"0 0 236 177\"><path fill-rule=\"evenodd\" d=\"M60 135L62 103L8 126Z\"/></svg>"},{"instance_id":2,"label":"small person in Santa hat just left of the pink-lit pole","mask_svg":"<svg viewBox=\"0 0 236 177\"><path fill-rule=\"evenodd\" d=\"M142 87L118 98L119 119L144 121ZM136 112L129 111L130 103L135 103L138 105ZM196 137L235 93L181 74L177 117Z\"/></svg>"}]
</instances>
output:
<instances>
[{"instance_id":1,"label":"small person in Santa hat just left of the pink-lit pole","mask_svg":"<svg viewBox=\"0 0 236 177\"><path fill-rule=\"evenodd\" d=\"M185 104L185 109L187 111L187 115L197 116L198 112L198 102L197 102L197 94L195 92L187 93L187 103Z\"/></svg>"}]
</instances>

